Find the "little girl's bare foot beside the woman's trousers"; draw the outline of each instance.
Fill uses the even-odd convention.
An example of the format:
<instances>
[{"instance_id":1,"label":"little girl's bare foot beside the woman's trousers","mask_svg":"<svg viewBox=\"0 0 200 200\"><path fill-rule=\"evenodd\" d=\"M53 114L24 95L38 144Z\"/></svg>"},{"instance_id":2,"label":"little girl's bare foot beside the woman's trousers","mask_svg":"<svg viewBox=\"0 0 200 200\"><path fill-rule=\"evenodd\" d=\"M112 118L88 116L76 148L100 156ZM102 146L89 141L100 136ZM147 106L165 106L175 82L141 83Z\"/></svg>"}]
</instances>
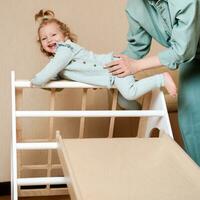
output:
<instances>
[{"instance_id":1,"label":"little girl's bare foot beside the woman's trousers","mask_svg":"<svg viewBox=\"0 0 200 200\"><path fill-rule=\"evenodd\" d=\"M176 97L177 96L176 84L172 79L171 75L168 72L165 72L163 73L163 76L164 76L164 87L167 89L167 91L171 96Z\"/></svg>"}]
</instances>

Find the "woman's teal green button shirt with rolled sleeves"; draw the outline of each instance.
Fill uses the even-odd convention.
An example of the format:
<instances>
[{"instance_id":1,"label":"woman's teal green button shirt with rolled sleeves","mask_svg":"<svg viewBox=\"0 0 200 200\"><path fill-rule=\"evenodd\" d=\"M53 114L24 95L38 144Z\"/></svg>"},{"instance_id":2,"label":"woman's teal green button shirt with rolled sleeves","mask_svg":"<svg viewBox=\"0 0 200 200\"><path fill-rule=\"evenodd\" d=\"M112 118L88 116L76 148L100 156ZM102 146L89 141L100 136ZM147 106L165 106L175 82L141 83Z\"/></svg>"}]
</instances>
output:
<instances>
[{"instance_id":1,"label":"woman's teal green button shirt with rolled sleeves","mask_svg":"<svg viewBox=\"0 0 200 200\"><path fill-rule=\"evenodd\" d=\"M126 13L128 56L144 57L154 38L167 47L158 57L171 69L200 58L200 0L128 0Z\"/></svg>"}]
</instances>

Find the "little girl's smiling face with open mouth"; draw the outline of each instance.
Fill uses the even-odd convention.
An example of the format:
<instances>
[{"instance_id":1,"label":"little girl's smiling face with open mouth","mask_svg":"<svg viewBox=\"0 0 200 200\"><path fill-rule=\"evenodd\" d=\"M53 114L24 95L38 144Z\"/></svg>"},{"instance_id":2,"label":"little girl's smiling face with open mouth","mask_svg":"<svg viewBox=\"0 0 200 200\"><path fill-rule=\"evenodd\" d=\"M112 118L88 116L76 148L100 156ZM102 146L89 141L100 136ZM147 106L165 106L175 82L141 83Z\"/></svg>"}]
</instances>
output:
<instances>
[{"instance_id":1,"label":"little girl's smiling face with open mouth","mask_svg":"<svg viewBox=\"0 0 200 200\"><path fill-rule=\"evenodd\" d=\"M55 23L48 23L39 30L39 38L42 48L51 54L55 54L57 43L64 42L65 36Z\"/></svg>"}]
</instances>

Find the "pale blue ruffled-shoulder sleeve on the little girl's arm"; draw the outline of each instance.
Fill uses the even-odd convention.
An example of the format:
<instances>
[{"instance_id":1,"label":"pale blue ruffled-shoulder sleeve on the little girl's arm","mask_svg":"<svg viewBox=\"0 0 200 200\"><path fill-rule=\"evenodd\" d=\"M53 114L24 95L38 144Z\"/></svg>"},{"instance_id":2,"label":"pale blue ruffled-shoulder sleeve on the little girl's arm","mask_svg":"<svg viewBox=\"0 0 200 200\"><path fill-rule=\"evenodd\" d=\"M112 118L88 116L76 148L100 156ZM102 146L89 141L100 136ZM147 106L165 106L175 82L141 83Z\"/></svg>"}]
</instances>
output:
<instances>
[{"instance_id":1,"label":"pale blue ruffled-shoulder sleeve on the little girl's arm","mask_svg":"<svg viewBox=\"0 0 200 200\"><path fill-rule=\"evenodd\" d=\"M55 56L39 73L35 75L31 80L31 83L42 87L55 78L73 59L74 53L71 48L72 47L69 45L58 44Z\"/></svg>"}]
</instances>

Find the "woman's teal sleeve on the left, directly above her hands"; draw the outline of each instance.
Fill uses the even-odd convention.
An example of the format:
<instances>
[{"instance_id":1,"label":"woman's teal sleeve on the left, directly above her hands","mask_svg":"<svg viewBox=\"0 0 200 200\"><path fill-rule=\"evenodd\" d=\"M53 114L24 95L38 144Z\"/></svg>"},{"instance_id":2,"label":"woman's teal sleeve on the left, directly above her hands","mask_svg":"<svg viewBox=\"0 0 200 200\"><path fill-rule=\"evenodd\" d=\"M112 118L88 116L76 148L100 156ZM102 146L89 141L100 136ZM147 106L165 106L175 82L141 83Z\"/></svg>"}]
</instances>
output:
<instances>
[{"instance_id":1,"label":"woman's teal sleeve on the left, directly above her hands","mask_svg":"<svg viewBox=\"0 0 200 200\"><path fill-rule=\"evenodd\" d=\"M133 19L127 11L129 30L128 45L122 52L133 59L143 58L150 50L152 37Z\"/></svg>"}]
</instances>

